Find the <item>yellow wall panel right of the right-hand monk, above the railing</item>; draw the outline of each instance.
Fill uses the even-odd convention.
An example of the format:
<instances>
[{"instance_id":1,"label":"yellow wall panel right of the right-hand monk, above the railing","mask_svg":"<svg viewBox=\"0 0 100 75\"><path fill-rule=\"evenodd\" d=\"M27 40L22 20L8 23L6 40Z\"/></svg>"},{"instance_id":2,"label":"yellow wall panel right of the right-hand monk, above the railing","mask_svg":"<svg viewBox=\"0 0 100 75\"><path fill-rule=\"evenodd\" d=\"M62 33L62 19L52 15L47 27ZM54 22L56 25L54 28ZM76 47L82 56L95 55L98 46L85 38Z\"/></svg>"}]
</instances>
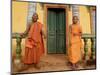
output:
<instances>
[{"instance_id":1,"label":"yellow wall panel right of the right-hand monk, above the railing","mask_svg":"<svg viewBox=\"0 0 100 75\"><path fill-rule=\"evenodd\" d=\"M83 33L91 33L90 13L86 6L79 6L79 15Z\"/></svg>"}]
</instances>

